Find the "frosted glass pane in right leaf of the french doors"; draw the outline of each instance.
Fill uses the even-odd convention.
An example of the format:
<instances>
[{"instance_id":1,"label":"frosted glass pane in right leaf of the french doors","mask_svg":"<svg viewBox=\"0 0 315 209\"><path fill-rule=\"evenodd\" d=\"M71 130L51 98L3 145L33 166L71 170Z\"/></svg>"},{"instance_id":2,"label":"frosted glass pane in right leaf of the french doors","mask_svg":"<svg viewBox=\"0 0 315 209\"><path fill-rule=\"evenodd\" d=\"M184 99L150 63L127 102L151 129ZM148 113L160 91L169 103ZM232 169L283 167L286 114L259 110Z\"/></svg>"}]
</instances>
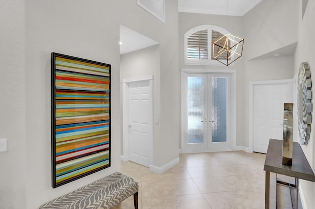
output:
<instances>
[{"instance_id":1,"label":"frosted glass pane in right leaf of the french doors","mask_svg":"<svg viewBox=\"0 0 315 209\"><path fill-rule=\"evenodd\" d=\"M227 78L212 78L212 142L226 142Z\"/></svg>"}]
</instances>

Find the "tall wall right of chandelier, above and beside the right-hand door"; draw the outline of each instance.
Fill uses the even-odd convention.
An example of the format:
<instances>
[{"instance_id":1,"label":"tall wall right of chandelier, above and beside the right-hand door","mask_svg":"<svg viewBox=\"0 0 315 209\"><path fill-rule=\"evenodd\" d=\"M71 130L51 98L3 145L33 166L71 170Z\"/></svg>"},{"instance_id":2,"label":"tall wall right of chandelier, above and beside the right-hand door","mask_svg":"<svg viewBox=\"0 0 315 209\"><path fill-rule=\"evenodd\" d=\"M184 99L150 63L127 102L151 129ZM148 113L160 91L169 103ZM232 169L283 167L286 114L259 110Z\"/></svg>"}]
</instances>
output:
<instances>
[{"instance_id":1,"label":"tall wall right of chandelier, above and beside the right-hand door","mask_svg":"<svg viewBox=\"0 0 315 209\"><path fill-rule=\"evenodd\" d=\"M249 82L293 78L294 56L259 56L297 42L296 0L262 0L242 17L244 33L244 77L242 144L249 146ZM239 96L239 95L238 95ZM238 135L240 137L240 135ZM250 148L251 149L251 148Z\"/></svg>"}]
</instances>

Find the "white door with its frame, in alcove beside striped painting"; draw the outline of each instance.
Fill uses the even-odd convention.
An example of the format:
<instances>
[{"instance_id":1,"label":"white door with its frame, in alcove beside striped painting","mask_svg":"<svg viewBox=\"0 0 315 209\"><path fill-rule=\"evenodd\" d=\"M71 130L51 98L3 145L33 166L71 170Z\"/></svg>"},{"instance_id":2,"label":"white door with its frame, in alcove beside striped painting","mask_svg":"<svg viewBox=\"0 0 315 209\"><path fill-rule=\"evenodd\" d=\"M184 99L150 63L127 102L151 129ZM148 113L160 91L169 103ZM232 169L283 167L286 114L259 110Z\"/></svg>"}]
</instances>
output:
<instances>
[{"instance_id":1,"label":"white door with its frame, in alcove beside striped painting","mask_svg":"<svg viewBox=\"0 0 315 209\"><path fill-rule=\"evenodd\" d=\"M123 79L124 156L149 167L153 160L153 76Z\"/></svg>"}]
</instances>

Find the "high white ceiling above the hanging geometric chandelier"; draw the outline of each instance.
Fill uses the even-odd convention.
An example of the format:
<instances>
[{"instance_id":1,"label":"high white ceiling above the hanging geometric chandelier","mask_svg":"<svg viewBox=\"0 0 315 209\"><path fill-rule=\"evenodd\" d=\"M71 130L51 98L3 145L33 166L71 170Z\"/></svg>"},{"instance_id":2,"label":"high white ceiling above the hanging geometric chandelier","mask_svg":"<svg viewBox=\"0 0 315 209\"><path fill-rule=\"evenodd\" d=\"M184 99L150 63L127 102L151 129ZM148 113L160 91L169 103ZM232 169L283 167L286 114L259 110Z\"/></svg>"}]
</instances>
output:
<instances>
[{"instance_id":1,"label":"high white ceiling above the hanging geometric chandelier","mask_svg":"<svg viewBox=\"0 0 315 209\"><path fill-rule=\"evenodd\" d=\"M260 1L261 0L178 0L178 11L243 16Z\"/></svg>"}]
</instances>

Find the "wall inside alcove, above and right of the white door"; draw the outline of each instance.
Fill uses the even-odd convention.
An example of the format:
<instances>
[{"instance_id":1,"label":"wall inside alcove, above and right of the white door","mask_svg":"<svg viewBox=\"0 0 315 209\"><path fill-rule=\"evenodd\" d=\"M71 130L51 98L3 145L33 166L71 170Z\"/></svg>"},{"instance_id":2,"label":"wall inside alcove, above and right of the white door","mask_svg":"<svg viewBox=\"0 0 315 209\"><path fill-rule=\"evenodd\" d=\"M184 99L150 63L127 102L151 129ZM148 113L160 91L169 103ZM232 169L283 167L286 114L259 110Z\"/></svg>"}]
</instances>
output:
<instances>
[{"instance_id":1,"label":"wall inside alcove, above and right of the white door","mask_svg":"<svg viewBox=\"0 0 315 209\"><path fill-rule=\"evenodd\" d=\"M160 139L160 50L159 45L121 55L121 80L153 75L153 141ZM123 142L122 142L123 145ZM121 147L123 153L123 146ZM154 159L156 161L157 159Z\"/></svg>"}]
</instances>

